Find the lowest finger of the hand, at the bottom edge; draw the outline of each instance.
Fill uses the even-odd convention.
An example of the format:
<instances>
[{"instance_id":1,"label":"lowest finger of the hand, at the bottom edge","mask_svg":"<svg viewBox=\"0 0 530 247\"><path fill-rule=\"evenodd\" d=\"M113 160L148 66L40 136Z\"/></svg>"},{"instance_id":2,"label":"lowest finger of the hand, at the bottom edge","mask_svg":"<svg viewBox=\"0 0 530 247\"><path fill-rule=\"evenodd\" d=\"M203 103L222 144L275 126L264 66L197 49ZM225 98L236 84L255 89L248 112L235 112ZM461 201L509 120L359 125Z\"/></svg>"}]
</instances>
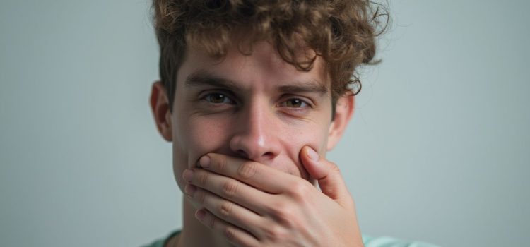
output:
<instances>
[{"instance_id":1,"label":"lowest finger of the hand, at the bottom edge","mask_svg":"<svg viewBox=\"0 0 530 247\"><path fill-rule=\"evenodd\" d=\"M197 210L195 217L206 227L223 234L235 246L258 246L259 241L248 231L223 221L208 210Z\"/></svg>"}]
</instances>

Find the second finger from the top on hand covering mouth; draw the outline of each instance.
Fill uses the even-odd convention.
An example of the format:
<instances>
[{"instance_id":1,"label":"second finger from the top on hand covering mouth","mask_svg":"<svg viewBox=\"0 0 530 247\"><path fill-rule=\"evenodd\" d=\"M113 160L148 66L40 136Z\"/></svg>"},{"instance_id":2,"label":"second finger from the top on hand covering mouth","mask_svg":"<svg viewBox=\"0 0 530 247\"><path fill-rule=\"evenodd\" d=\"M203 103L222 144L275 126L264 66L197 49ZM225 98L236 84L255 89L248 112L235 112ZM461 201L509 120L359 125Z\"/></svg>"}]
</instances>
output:
<instances>
[{"instance_id":1,"label":"second finger from the top on hand covering mouth","mask_svg":"<svg viewBox=\"0 0 530 247\"><path fill-rule=\"evenodd\" d=\"M191 175L189 174L191 171ZM194 186L204 188L213 194L246 207L259 215L264 215L266 201L271 200L271 194L237 181L228 176L207 171L205 169L190 169L185 171L184 179ZM189 179L189 180L188 180ZM213 212L213 211L212 211Z\"/></svg>"}]
</instances>

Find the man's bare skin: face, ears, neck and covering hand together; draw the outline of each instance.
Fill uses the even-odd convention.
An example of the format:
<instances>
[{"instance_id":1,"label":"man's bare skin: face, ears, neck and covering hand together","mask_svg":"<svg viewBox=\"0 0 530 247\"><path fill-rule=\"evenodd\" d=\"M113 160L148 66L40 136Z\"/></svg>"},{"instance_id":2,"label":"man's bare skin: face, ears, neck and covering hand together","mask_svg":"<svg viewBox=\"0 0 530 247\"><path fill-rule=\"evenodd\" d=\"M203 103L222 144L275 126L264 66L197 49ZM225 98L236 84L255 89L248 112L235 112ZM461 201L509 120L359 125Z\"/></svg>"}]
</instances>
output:
<instances>
[{"instance_id":1,"label":"man's bare skin: face, ears, neck and covering hand together","mask_svg":"<svg viewBox=\"0 0 530 247\"><path fill-rule=\"evenodd\" d=\"M172 111L160 82L151 92L186 195L182 232L167 246L363 246L353 199L325 159L354 100L340 97L331 120L322 59L304 72L268 42L223 59L189 48L177 72Z\"/></svg>"}]
</instances>

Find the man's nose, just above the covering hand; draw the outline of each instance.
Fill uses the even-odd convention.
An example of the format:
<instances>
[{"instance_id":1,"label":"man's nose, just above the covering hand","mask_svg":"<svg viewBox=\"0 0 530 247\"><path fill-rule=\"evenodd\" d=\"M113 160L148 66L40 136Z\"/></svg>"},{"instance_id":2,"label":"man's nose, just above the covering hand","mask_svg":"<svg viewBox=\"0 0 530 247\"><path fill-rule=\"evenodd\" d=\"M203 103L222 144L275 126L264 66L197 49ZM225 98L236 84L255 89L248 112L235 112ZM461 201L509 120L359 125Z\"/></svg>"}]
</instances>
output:
<instances>
[{"instance_id":1,"label":"man's nose, just above the covering hand","mask_svg":"<svg viewBox=\"0 0 530 247\"><path fill-rule=\"evenodd\" d=\"M270 162L281 152L278 122L271 107L257 102L240 111L232 126L230 149L255 162Z\"/></svg>"}]
</instances>

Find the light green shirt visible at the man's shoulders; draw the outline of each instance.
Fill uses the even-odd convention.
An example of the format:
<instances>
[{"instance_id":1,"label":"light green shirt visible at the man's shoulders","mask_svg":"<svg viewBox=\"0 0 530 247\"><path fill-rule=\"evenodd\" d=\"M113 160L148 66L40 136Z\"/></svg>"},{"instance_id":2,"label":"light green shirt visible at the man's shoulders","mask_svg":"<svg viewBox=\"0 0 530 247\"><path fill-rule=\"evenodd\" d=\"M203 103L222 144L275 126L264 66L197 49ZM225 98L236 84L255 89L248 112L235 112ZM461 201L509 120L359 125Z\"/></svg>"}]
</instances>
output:
<instances>
[{"instance_id":1,"label":"light green shirt visible at the man's shoulders","mask_svg":"<svg viewBox=\"0 0 530 247\"><path fill-rule=\"evenodd\" d=\"M143 246L143 247L164 247L165 242L168 239L171 239L172 236L175 236L180 231L175 231L169 234L164 239L158 239L154 241L153 243ZM404 241L401 239L394 239L388 236L382 236L382 237L371 237L366 236L363 234L363 243L365 244L365 247L439 247L435 246L431 243L423 243L418 241Z\"/></svg>"}]
</instances>

